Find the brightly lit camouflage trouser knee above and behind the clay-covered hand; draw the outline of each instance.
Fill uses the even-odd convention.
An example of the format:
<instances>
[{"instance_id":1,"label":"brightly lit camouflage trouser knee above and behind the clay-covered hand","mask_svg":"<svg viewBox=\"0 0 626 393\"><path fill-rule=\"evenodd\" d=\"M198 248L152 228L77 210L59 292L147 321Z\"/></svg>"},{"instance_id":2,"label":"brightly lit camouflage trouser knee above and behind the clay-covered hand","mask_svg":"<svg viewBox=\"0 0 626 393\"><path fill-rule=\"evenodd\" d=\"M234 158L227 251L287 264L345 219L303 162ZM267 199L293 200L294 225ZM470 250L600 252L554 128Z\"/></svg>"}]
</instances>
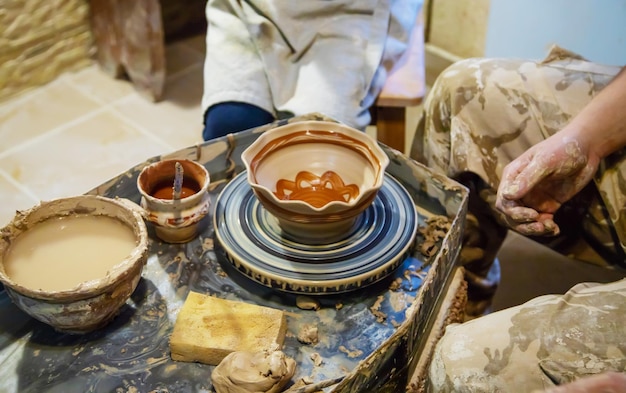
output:
<instances>
[{"instance_id":1,"label":"brightly lit camouflage trouser knee above and behind the clay-covered hand","mask_svg":"<svg viewBox=\"0 0 626 393\"><path fill-rule=\"evenodd\" d=\"M449 177L472 172L497 188L504 166L563 128L619 70L562 56L457 62L426 99L412 153Z\"/></svg>"}]
</instances>

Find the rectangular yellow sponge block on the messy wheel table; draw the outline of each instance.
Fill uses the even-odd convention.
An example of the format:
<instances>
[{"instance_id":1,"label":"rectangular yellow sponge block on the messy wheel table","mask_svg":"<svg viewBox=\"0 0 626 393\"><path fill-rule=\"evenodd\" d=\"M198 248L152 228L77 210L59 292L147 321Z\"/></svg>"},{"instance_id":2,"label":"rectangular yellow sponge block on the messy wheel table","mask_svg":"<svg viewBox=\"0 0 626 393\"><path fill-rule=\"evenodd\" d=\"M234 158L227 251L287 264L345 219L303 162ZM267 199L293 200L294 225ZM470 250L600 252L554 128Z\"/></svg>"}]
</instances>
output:
<instances>
[{"instance_id":1,"label":"rectangular yellow sponge block on the messy wheel table","mask_svg":"<svg viewBox=\"0 0 626 393\"><path fill-rule=\"evenodd\" d=\"M282 348L282 310L189 292L170 337L173 360L216 366L231 352Z\"/></svg>"}]
</instances>

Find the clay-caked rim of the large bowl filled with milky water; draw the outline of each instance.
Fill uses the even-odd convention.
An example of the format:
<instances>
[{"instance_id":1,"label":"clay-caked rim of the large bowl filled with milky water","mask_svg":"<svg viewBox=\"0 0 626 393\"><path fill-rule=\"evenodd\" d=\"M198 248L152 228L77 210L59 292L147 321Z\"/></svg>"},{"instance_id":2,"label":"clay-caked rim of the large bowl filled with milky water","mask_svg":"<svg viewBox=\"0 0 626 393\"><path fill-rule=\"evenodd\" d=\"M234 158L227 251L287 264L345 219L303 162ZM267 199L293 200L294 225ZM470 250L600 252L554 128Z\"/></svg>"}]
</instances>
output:
<instances>
[{"instance_id":1,"label":"clay-caked rim of the large bowl filled with milky water","mask_svg":"<svg viewBox=\"0 0 626 393\"><path fill-rule=\"evenodd\" d=\"M76 208L80 208L80 201L93 201L93 202L102 202L110 205L114 205L116 208L120 208L126 211L130 216L132 216L133 221L136 225L134 225L137 229L131 227L135 235L137 236L137 244L131 251L131 253L124 258L121 262L114 265L109 271L107 275L98 279L89 280L78 284L78 286L67 289L67 290L59 290L59 291L47 291L41 289L33 289L29 287L25 287L13 281L11 277L9 277L4 268L4 256L7 250L11 246L11 242L8 239L13 239L24 233L28 228L20 228L20 225L23 225L24 220L28 219L28 217L34 212L50 206L52 204L58 203L74 203ZM106 214L101 214L106 215ZM42 220L37 222L44 221L49 218L63 216L62 214L50 214L45 216ZM107 215L108 216L108 215ZM109 216L110 217L110 216ZM115 218L115 217L112 217ZM121 221L121 220L120 220ZM124 222L124 225L128 225ZM57 198L48 201L41 201L37 205L22 211L17 211L13 220L11 220L6 226L0 228L0 282L2 282L6 289L12 290L21 296L27 296L30 298L35 298L44 301L50 302L63 302L63 301L76 301L82 300L86 298L96 297L102 293L105 293L112 288L115 288L119 285L121 281L126 279L129 275L134 274L134 272L139 268L141 274L142 265L146 263L148 256L148 231L146 228L146 224L143 220L139 207L135 207L134 203L130 200L126 200L123 198L108 198L100 195L79 195L72 197L64 197Z\"/></svg>"}]
</instances>

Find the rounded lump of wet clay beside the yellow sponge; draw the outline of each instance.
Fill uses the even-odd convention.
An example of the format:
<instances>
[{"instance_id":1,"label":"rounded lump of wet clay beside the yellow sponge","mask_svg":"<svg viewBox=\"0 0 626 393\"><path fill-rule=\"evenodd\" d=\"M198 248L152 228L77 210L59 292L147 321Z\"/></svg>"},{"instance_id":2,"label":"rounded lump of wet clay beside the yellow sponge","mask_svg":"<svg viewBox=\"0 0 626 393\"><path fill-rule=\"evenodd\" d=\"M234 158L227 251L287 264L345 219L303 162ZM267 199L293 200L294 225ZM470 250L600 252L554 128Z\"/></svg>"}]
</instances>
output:
<instances>
[{"instance_id":1,"label":"rounded lump of wet clay beside the yellow sponge","mask_svg":"<svg viewBox=\"0 0 626 393\"><path fill-rule=\"evenodd\" d=\"M282 351L233 352L215 367L217 393L278 393L291 380L296 361Z\"/></svg>"}]
</instances>

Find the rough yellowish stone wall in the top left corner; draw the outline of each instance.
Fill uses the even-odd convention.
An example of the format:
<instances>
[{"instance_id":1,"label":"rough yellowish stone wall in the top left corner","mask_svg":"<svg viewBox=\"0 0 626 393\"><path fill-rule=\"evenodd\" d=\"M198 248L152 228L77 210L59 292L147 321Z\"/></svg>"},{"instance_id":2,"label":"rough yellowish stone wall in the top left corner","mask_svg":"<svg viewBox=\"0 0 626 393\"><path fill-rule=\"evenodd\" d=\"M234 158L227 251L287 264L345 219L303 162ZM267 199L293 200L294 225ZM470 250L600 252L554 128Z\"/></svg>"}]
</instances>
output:
<instances>
[{"instance_id":1,"label":"rough yellowish stone wall in the top left corner","mask_svg":"<svg viewBox=\"0 0 626 393\"><path fill-rule=\"evenodd\" d=\"M0 0L0 101L92 62L88 0Z\"/></svg>"}]
</instances>

